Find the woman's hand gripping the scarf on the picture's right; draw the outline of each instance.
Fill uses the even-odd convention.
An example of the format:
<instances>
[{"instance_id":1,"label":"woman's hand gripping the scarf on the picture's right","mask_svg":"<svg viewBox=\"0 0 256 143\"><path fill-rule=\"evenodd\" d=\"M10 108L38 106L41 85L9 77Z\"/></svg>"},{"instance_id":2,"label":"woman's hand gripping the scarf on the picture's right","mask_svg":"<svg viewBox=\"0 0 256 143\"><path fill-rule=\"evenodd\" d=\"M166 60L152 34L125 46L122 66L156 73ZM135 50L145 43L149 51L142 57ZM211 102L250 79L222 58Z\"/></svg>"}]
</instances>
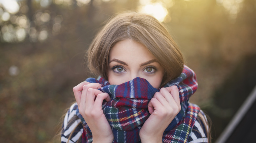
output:
<instances>
[{"instance_id":1,"label":"woman's hand gripping the scarf on the picture's right","mask_svg":"<svg viewBox=\"0 0 256 143\"><path fill-rule=\"evenodd\" d=\"M148 103L151 114L140 129L141 142L162 142L167 126L180 112L181 104L177 86L161 88Z\"/></svg>"}]
</instances>

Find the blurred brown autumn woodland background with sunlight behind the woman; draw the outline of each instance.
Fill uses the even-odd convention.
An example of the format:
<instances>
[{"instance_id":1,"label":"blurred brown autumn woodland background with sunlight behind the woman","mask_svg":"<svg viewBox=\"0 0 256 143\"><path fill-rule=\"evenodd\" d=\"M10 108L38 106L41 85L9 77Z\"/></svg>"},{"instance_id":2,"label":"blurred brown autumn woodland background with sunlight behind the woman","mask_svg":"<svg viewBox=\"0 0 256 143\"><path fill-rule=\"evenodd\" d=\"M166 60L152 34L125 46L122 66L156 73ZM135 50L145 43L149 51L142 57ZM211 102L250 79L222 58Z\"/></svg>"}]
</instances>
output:
<instances>
[{"instance_id":1,"label":"blurred brown autumn woodland background with sunlight behind the woman","mask_svg":"<svg viewBox=\"0 0 256 143\"><path fill-rule=\"evenodd\" d=\"M126 10L168 27L219 137L256 85L255 0L0 0L0 142L57 142L90 42Z\"/></svg>"}]
</instances>

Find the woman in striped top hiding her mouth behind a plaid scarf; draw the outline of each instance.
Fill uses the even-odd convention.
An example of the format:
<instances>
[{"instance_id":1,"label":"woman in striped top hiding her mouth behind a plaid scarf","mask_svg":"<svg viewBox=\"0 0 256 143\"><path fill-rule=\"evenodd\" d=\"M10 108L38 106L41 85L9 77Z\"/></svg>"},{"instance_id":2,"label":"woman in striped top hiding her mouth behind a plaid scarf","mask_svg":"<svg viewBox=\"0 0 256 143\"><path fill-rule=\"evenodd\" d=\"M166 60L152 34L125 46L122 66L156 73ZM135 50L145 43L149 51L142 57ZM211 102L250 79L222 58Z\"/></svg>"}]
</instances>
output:
<instances>
[{"instance_id":1,"label":"woman in striped top hiding her mouth behind a plaid scarf","mask_svg":"<svg viewBox=\"0 0 256 143\"><path fill-rule=\"evenodd\" d=\"M117 15L87 54L100 77L73 88L76 103L65 116L62 142L208 142L206 118L188 102L195 74L155 18Z\"/></svg>"}]
</instances>

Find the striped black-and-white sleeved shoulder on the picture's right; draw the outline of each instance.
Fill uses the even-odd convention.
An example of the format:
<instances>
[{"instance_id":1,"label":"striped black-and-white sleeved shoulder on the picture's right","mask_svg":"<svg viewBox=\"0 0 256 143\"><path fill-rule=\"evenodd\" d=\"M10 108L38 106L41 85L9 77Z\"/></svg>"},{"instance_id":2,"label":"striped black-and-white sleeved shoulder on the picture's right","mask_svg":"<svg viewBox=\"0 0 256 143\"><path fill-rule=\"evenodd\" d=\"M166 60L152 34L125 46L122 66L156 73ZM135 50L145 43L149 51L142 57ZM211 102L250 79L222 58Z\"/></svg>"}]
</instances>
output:
<instances>
[{"instance_id":1,"label":"striped black-and-white sleeved shoulder on the picture's right","mask_svg":"<svg viewBox=\"0 0 256 143\"><path fill-rule=\"evenodd\" d=\"M207 124L207 118L202 110L200 110L198 118L189 135L189 143L207 143L208 142L209 127Z\"/></svg>"}]
</instances>

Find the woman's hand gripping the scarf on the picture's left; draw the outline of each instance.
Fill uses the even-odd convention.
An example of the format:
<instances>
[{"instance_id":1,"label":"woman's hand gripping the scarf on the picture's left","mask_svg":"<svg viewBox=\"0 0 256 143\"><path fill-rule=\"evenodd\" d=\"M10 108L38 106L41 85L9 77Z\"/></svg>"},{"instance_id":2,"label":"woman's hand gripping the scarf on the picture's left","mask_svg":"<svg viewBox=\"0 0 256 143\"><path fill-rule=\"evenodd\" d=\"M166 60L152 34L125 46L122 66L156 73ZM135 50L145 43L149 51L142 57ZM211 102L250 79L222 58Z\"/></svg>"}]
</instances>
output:
<instances>
[{"instance_id":1,"label":"woman's hand gripping the scarf on the picture's left","mask_svg":"<svg viewBox=\"0 0 256 143\"><path fill-rule=\"evenodd\" d=\"M111 100L108 93L98 90L98 83L82 82L73 88L79 113L83 116L93 134L93 142L113 142L112 129L103 114L103 100Z\"/></svg>"}]
</instances>

